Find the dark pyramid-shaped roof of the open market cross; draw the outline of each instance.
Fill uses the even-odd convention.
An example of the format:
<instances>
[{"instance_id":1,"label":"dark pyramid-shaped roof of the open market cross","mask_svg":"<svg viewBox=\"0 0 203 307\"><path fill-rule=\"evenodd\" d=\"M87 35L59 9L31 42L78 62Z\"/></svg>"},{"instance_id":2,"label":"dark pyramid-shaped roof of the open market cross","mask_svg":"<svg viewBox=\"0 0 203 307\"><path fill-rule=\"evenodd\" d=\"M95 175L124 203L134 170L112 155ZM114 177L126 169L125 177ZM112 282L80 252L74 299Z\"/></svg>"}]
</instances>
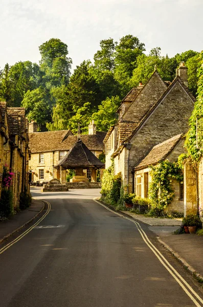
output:
<instances>
[{"instance_id":1,"label":"dark pyramid-shaped roof of the open market cross","mask_svg":"<svg viewBox=\"0 0 203 307\"><path fill-rule=\"evenodd\" d=\"M104 168L104 164L87 148L81 139L77 139L71 150L66 153L65 157L55 168L60 166L65 169Z\"/></svg>"}]
</instances>

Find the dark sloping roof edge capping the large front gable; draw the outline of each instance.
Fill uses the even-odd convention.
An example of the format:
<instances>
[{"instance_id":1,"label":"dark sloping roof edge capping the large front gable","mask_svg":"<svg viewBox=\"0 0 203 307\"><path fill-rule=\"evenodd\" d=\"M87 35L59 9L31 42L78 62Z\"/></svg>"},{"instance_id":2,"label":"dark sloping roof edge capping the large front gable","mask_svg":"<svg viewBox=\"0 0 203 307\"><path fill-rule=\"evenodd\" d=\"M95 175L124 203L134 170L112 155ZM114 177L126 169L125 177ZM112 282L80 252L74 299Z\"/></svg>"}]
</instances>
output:
<instances>
[{"instance_id":1,"label":"dark sloping roof edge capping the large front gable","mask_svg":"<svg viewBox=\"0 0 203 307\"><path fill-rule=\"evenodd\" d=\"M142 125L145 124L145 122L147 121L147 119L150 117L150 115L153 113L153 111L156 109L156 107L158 107L163 99L168 95L168 93L171 91L172 87L175 85L176 82L179 82L179 84L182 85L182 87L184 88L184 90L187 92L187 94L190 96L191 100L194 102L195 98L194 96L190 93L190 91L188 90L188 87L183 83L183 81L181 80L180 77L176 77L173 82L169 85L168 89L164 92L164 94L162 95L162 97L157 100L152 107L149 109L149 111L145 114L145 116L142 118L142 120L140 121L139 125L132 131L132 133L124 140L124 141L128 141L130 140L136 133L137 131L142 127Z\"/></svg>"}]
</instances>

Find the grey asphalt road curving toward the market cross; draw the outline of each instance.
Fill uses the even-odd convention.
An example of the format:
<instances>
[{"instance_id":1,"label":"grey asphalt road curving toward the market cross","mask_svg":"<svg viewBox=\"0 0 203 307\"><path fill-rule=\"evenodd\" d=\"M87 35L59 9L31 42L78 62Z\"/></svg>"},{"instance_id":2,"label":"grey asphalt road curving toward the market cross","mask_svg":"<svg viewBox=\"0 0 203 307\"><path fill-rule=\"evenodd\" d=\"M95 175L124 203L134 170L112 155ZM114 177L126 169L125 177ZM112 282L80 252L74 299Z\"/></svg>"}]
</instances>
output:
<instances>
[{"instance_id":1,"label":"grey asphalt road curving toward the market cross","mask_svg":"<svg viewBox=\"0 0 203 307\"><path fill-rule=\"evenodd\" d=\"M98 195L93 189L43 194L33 190L35 198L50 202L51 211L0 254L0 306L203 306L155 256L136 224L93 201ZM196 281L156 245L147 226L140 225L203 297Z\"/></svg>"}]
</instances>

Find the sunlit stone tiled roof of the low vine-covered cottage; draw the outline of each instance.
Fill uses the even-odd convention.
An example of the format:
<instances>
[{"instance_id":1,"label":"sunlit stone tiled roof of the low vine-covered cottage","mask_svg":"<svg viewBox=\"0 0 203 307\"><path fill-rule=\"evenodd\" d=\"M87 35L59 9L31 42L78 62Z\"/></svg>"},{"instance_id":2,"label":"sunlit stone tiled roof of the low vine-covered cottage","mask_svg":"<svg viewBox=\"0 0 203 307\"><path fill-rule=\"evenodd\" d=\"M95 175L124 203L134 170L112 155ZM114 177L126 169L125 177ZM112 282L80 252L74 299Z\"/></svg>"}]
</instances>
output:
<instances>
[{"instance_id":1,"label":"sunlit stone tiled roof of the low vine-covered cottage","mask_svg":"<svg viewBox=\"0 0 203 307\"><path fill-rule=\"evenodd\" d=\"M179 134L171 139L155 145L148 155L134 168L134 170L145 168L149 165L154 165L162 160L165 160L175 145L181 140L182 134Z\"/></svg>"}]
</instances>

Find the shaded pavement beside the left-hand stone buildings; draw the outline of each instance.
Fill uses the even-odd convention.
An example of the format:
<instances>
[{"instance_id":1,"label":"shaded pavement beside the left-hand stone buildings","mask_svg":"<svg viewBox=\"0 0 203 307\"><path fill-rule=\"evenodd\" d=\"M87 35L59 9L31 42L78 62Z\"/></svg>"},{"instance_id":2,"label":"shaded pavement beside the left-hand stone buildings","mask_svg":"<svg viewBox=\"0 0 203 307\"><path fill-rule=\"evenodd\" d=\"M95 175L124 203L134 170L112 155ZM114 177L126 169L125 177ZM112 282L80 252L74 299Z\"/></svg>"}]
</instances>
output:
<instances>
[{"instance_id":1,"label":"shaded pavement beside the left-hand stone buildings","mask_svg":"<svg viewBox=\"0 0 203 307\"><path fill-rule=\"evenodd\" d=\"M43 202L32 199L29 208L19 211L7 221L0 222L0 243L31 223L40 214L43 207Z\"/></svg>"}]
</instances>

